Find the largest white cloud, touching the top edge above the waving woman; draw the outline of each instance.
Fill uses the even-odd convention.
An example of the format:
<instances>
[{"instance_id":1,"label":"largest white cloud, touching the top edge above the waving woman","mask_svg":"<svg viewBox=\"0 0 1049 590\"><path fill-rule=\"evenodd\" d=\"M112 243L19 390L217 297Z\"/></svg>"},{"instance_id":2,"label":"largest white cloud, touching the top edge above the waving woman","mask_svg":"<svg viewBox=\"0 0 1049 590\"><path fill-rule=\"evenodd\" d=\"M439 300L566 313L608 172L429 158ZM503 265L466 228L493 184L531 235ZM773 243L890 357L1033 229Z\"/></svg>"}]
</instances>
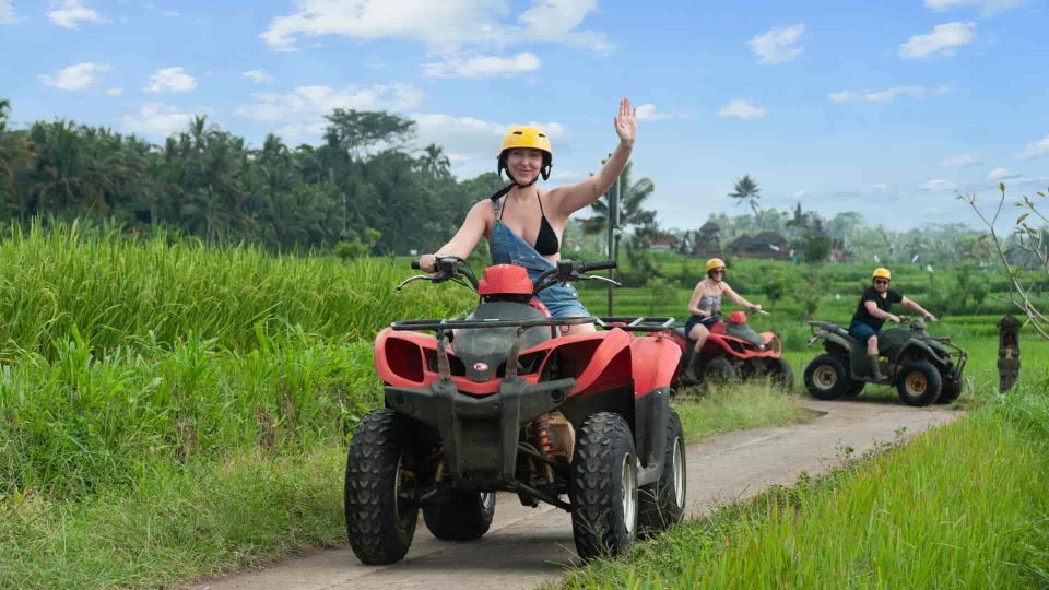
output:
<instances>
[{"instance_id":1,"label":"largest white cloud, touching the top edge above the waving woman","mask_svg":"<svg viewBox=\"0 0 1049 590\"><path fill-rule=\"evenodd\" d=\"M296 0L294 12L273 19L260 38L280 51L294 51L299 37L340 35L443 47L546 42L608 52L612 45L603 34L578 30L594 10L597 0L532 0L512 20L503 0Z\"/></svg>"}]
</instances>

